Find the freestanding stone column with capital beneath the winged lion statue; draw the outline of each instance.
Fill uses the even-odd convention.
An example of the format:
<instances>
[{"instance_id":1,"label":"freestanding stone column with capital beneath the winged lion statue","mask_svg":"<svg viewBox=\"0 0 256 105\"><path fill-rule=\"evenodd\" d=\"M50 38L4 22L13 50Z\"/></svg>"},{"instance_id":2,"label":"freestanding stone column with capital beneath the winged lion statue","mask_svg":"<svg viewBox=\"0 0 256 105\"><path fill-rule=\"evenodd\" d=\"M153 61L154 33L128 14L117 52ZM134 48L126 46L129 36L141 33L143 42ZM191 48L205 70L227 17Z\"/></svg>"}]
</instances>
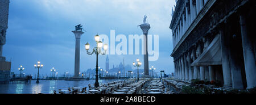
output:
<instances>
[{"instance_id":1,"label":"freestanding stone column with capital beneath the winged lion statue","mask_svg":"<svg viewBox=\"0 0 256 105\"><path fill-rule=\"evenodd\" d=\"M76 50L75 50L75 77L79 77L80 72L80 38L84 33L82 31L72 31L76 37Z\"/></svg>"}]
</instances>

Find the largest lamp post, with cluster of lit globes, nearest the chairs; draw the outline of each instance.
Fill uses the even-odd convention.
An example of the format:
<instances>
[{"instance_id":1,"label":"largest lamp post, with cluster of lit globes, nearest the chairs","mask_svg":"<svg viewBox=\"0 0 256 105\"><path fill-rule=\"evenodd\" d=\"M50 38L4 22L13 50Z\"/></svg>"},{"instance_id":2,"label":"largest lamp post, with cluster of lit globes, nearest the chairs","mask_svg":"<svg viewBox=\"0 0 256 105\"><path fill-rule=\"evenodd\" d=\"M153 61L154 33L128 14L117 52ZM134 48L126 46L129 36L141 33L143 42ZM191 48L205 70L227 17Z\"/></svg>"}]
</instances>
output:
<instances>
[{"instance_id":1,"label":"largest lamp post, with cluster of lit globes, nearest the chairs","mask_svg":"<svg viewBox=\"0 0 256 105\"><path fill-rule=\"evenodd\" d=\"M86 43L85 44L85 49L87 51L87 54L92 55L93 53L96 54L96 75L95 75L95 83L94 83L94 87L98 87L98 54L102 54L105 55L106 50L108 50L108 45L104 44L103 48L105 53L101 53L101 48L102 48L102 42L100 41L100 36L98 36L98 34L96 36L94 36L94 39L97 43L97 46L93 48L92 52L89 52L89 48L90 48L90 44Z\"/></svg>"}]
</instances>

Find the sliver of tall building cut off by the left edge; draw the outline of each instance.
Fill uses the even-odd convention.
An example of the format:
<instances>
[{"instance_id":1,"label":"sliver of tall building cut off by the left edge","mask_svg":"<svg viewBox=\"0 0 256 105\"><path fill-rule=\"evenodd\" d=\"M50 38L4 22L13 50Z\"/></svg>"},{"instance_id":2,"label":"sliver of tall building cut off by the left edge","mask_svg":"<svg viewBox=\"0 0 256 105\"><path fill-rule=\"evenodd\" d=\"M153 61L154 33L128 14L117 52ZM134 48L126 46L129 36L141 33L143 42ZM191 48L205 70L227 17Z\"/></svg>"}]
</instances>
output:
<instances>
[{"instance_id":1,"label":"sliver of tall building cut off by the left edge","mask_svg":"<svg viewBox=\"0 0 256 105\"><path fill-rule=\"evenodd\" d=\"M0 82L10 81L11 62L6 61L6 58L2 56L8 28L9 3L9 0L0 1Z\"/></svg>"}]
</instances>

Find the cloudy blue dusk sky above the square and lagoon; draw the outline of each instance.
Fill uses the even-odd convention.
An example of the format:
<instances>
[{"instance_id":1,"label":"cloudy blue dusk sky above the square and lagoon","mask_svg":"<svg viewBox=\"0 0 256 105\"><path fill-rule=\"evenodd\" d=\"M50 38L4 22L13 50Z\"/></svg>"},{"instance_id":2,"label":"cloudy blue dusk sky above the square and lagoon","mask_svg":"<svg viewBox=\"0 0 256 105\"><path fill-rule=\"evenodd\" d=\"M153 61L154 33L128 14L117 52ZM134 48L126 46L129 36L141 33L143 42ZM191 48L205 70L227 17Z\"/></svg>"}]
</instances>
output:
<instances>
[{"instance_id":1,"label":"cloudy blue dusk sky above the square and lagoon","mask_svg":"<svg viewBox=\"0 0 256 105\"><path fill-rule=\"evenodd\" d=\"M82 24L86 32L81 36L80 71L95 68L96 56L86 54L84 44L95 46L96 33L110 36L142 34L144 15L150 23L148 34L159 35L159 58L150 61L156 72L174 72L172 36L169 28L174 0L11 0L9 28L3 56L11 60L11 72L19 73L23 65L26 74L36 74L36 61L44 68L40 73L49 74L55 67L59 74L73 74L75 64L75 36L72 31ZM127 38L128 39L128 38ZM118 44L118 42L116 43ZM109 55L110 69L125 58L125 64L132 64L136 58L143 61L143 55ZM99 56L99 66L105 69L106 56ZM142 62L143 63L143 62ZM143 66L141 67L143 69Z\"/></svg>"}]
</instances>

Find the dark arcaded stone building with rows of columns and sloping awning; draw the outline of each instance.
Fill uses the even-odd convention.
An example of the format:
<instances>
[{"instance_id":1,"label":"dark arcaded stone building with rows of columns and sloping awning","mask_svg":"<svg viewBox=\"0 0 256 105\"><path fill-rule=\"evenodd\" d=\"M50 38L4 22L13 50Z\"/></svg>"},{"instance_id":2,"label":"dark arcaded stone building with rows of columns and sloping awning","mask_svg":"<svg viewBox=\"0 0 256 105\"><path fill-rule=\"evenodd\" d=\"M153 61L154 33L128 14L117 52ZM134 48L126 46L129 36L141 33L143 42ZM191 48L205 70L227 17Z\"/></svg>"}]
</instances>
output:
<instances>
[{"instance_id":1,"label":"dark arcaded stone building with rows of columns and sloping awning","mask_svg":"<svg viewBox=\"0 0 256 105\"><path fill-rule=\"evenodd\" d=\"M178 0L170 29L175 78L256 87L255 0Z\"/></svg>"}]
</instances>

